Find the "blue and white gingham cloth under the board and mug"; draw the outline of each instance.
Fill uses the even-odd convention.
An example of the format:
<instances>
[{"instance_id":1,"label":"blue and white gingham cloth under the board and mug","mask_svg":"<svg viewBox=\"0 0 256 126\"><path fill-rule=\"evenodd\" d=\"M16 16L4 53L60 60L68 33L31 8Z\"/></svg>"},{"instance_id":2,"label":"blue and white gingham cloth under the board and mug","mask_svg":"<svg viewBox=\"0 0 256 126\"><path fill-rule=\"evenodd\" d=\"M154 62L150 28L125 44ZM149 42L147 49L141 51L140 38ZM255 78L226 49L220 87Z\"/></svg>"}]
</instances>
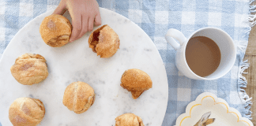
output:
<instances>
[{"instance_id":1,"label":"blue and white gingham cloth under the board and mug","mask_svg":"<svg viewBox=\"0 0 256 126\"><path fill-rule=\"evenodd\" d=\"M111 9L134 21L149 35L159 50L168 75L169 87L168 108L162 125L175 125L176 118L181 113L185 113L188 103L205 91L224 98L230 106L238 109L243 117L249 113L248 108L245 108L245 102L239 97L238 83L239 64L243 60L241 52L246 49L250 31L247 21L243 21L249 13L247 0L98 0L97 2L100 7ZM58 3L59 0L0 0L0 57L13 35L24 24L41 13L55 9ZM175 50L166 43L164 35L168 28L176 28L188 37L199 28L208 26L227 31L235 40L239 54L232 70L219 80L190 80L175 67Z\"/></svg>"}]
</instances>

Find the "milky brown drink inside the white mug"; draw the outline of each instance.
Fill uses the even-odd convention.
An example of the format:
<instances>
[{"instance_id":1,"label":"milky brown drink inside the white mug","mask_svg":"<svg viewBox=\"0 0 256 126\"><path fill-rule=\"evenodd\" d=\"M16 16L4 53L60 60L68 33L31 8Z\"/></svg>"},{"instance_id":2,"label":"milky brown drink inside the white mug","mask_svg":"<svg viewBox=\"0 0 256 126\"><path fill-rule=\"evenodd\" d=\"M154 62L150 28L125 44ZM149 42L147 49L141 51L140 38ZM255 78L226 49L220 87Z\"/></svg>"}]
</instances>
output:
<instances>
[{"instance_id":1,"label":"milky brown drink inside the white mug","mask_svg":"<svg viewBox=\"0 0 256 126\"><path fill-rule=\"evenodd\" d=\"M209 76L220 65L220 48L205 36L191 38L186 45L186 63L198 76Z\"/></svg>"}]
</instances>

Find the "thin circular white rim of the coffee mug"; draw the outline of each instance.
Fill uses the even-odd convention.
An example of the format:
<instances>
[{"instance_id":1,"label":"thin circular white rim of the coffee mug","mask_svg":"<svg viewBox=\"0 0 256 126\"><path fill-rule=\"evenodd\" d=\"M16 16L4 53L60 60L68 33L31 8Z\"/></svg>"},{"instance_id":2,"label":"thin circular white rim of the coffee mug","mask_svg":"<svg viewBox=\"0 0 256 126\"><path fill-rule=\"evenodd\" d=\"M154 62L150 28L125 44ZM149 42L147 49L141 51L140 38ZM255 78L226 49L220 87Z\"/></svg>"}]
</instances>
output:
<instances>
[{"instance_id":1,"label":"thin circular white rim of the coffee mug","mask_svg":"<svg viewBox=\"0 0 256 126\"><path fill-rule=\"evenodd\" d=\"M222 29L220 29L220 28L214 28L214 27L200 28L200 29L198 29L197 31L194 31L194 32L190 35L190 37L189 37L188 39L186 39L186 43L184 43L184 44L187 45L188 41L191 39L191 37L192 37L195 33L197 33L198 31L201 31L201 30L205 30L205 29L214 29L214 30L217 30L217 31L221 31L221 32L224 33L224 35L228 36L228 39L231 39L231 40L232 40L232 46L233 46L232 48L233 48L233 50L235 50L235 53L234 53L234 56L233 56L233 57L236 58L236 48L235 48L234 40L232 39L232 37L231 37L230 35L228 35L228 33L227 33L226 31L224 31L224 30L222 30ZM185 59L185 61L186 61L186 45L184 46L184 51L185 51L185 52L183 53L183 58ZM229 66L228 70L227 70L226 72L223 72L222 74L220 74L220 76L217 76L217 77L215 77L215 78L206 78L207 76L205 76L205 77L198 76L197 74L195 74L195 73L190 69L189 65L187 64L187 61L186 61L186 68L189 69L189 71L190 71L194 76L197 76L200 80L216 80L216 79L219 79L219 78L222 77L222 76L225 76L225 75L232 69L233 65L235 64L235 58L234 58L234 60L232 61L232 65ZM219 67L219 66L218 66L218 67ZM211 73L211 74L212 74L212 73Z\"/></svg>"}]
</instances>

